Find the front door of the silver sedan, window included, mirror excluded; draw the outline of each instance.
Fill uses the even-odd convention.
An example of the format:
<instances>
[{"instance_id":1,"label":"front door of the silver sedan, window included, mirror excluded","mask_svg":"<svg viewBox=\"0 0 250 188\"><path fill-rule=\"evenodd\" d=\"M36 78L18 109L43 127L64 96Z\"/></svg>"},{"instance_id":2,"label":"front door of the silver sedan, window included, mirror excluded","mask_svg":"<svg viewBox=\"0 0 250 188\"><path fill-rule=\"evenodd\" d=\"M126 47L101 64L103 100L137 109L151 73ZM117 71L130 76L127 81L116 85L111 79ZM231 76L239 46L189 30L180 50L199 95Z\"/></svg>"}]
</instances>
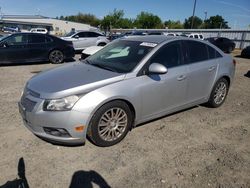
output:
<instances>
[{"instance_id":1,"label":"front door of the silver sedan, window included, mirror excluded","mask_svg":"<svg viewBox=\"0 0 250 188\"><path fill-rule=\"evenodd\" d=\"M174 111L187 100L187 65L183 64L181 43L171 42L156 52L149 62L164 65L163 75L141 76L142 119Z\"/></svg>"}]
</instances>

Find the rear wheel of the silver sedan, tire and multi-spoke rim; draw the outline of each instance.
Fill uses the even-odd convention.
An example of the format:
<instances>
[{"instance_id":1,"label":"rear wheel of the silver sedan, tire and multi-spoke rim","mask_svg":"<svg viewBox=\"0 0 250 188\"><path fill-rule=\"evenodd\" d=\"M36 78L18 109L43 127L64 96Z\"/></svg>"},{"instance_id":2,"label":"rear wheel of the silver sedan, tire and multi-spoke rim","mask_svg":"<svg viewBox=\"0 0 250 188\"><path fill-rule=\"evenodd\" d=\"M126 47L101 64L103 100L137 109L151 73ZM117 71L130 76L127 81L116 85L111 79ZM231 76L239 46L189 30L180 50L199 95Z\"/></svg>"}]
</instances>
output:
<instances>
[{"instance_id":1,"label":"rear wheel of the silver sedan, tire and multi-spoke rim","mask_svg":"<svg viewBox=\"0 0 250 188\"><path fill-rule=\"evenodd\" d=\"M219 79L213 87L212 93L207 103L208 106L212 108L221 106L226 100L228 89L228 81L225 78Z\"/></svg>"}]
</instances>

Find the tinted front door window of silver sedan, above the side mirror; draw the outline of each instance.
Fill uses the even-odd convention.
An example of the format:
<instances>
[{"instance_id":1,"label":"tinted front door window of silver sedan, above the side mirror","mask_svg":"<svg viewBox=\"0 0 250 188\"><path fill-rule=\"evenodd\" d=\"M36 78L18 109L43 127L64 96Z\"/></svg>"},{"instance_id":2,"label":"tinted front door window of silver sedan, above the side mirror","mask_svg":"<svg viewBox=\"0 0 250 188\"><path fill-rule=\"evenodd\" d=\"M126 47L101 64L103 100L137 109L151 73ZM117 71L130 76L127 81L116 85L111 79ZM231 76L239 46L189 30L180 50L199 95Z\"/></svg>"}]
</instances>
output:
<instances>
[{"instance_id":1,"label":"tinted front door window of silver sedan, above the side mirror","mask_svg":"<svg viewBox=\"0 0 250 188\"><path fill-rule=\"evenodd\" d=\"M150 60L150 63L160 63L167 68L181 64L181 45L173 42L162 47L158 53Z\"/></svg>"}]
</instances>

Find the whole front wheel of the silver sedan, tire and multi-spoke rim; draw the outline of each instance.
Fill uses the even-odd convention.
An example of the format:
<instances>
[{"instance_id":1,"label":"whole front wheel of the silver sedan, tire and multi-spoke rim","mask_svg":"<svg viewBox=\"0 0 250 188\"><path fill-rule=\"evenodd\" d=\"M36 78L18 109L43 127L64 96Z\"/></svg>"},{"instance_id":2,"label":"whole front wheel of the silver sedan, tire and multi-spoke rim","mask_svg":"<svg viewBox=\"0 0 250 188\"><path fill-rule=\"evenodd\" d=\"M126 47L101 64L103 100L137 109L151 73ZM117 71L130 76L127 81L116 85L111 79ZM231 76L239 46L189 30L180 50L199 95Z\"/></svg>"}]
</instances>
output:
<instances>
[{"instance_id":1,"label":"whole front wheel of the silver sedan, tire and multi-spoke rim","mask_svg":"<svg viewBox=\"0 0 250 188\"><path fill-rule=\"evenodd\" d=\"M113 101L99 108L91 119L88 137L97 146L119 143L132 125L132 113L123 101Z\"/></svg>"}]
</instances>

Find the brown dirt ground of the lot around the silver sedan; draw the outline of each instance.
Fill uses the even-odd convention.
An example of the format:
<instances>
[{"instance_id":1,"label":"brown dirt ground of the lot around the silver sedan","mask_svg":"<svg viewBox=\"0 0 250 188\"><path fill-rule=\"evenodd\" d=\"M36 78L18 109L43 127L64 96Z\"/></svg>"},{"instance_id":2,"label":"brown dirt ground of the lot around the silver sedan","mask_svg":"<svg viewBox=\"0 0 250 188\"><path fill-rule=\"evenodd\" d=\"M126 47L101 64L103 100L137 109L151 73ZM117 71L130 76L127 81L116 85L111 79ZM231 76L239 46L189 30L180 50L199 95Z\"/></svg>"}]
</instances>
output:
<instances>
[{"instance_id":1,"label":"brown dirt ground of the lot around the silver sedan","mask_svg":"<svg viewBox=\"0 0 250 188\"><path fill-rule=\"evenodd\" d=\"M22 123L25 82L51 64L0 67L0 187L24 159L31 188L250 187L250 60L236 58L235 81L218 109L198 106L133 129L109 148L46 143ZM98 187L98 186L97 186Z\"/></svg>"}]
</instances>

